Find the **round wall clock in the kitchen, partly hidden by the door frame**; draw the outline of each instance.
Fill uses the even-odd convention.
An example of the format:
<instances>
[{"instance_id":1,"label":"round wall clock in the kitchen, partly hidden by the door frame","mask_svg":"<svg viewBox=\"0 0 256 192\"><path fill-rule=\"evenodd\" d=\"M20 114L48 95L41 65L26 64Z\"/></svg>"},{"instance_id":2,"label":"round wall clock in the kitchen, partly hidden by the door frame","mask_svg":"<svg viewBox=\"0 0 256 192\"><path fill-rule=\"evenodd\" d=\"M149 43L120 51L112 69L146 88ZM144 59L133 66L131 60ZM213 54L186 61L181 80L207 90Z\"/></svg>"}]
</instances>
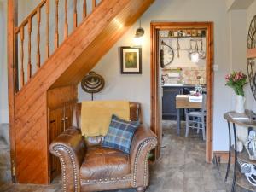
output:
<instances>
[{"instance_id":1,"label":"round wall clock in the kitchen, partly hidden by the door frame","mask_svg":"<svg viewBox=\"0 0 256 192\"><path fill-rule=\"evenodd\" d=\"M167 45L164 41L161 41L160 48L160 67L164 68L173 61L174 51L172 47Z\"/></svg>"}]
</instances>

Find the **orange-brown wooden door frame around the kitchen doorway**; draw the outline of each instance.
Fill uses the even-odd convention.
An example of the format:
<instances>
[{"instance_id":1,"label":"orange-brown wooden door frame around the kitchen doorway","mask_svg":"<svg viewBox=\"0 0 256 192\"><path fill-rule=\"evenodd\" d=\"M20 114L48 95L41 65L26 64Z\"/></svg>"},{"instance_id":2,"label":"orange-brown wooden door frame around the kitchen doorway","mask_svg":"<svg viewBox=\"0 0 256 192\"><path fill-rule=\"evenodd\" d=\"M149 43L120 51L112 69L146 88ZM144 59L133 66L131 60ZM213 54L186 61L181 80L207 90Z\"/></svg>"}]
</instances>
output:
<instances>
[{"instance_id":1,"label":"orange-brown wooden door frame around the kitchen doorway","mask_svg":"<svg viewBox=\"0 0 256 192\"><path fill-rule=\"evenodd\" d=\"M150 128L158 137L158 145L154 150L154 157L160 157L162 129L160 125L160 67L158 58L158 32L170 29L206 29L207 30L207 131L206 131L206 161L212 162L212 118L213 118L213 22L151 22L150 23Z\"/></svg>"}]
</instances>

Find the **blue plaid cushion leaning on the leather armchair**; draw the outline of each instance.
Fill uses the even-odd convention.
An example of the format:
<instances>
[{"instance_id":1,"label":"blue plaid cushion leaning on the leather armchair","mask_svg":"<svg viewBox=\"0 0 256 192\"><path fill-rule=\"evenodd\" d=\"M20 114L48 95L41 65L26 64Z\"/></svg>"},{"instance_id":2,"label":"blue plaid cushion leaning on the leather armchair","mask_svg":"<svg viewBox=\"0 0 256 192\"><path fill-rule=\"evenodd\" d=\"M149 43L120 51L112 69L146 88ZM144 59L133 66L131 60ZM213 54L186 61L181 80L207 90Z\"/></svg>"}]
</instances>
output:
<instances>
[{"instance_id":1,"label":"blue plaid cushion leaning on the leather armchair","mask_svg":"<svg viewBox=\"0 0 256 192\"><path fill-rule=\"evenodd\" d=\"M113 114L102 147L116 148L129 154L132 137L139 125L138 121L126 121Z\"/></svg>"}]
</instances>

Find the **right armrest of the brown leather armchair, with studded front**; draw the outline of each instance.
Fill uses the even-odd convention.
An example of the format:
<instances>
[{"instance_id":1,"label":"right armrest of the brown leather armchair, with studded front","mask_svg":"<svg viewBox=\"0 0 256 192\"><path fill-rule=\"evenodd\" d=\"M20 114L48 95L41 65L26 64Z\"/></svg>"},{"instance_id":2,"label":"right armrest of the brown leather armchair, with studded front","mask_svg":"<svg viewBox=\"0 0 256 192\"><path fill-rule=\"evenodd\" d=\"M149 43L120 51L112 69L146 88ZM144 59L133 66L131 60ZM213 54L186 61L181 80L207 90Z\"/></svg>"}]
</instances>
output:
<instances>
[{"instance_id":1,"label":"right armrest of the brown leather armchair, with studded front","mask_svg":"<svg viewBox=\"0 0 256 192\"><path fill-rule=\"evenodd\" d=\"M148 154L156 146L157 137L149 128L141 125L131 142L131 186L148 186Z\"/></svg>"}]
</instances>

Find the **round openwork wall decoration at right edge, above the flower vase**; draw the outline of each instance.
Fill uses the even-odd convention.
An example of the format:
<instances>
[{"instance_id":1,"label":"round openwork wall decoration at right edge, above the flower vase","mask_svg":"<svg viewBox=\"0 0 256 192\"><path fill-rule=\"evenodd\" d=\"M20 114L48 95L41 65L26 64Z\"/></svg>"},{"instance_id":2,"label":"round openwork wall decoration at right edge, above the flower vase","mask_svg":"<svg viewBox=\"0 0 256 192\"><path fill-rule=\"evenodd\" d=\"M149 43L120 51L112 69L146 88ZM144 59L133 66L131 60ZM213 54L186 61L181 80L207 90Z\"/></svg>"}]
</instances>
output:
<instances>
[{"instance_id":1,"label":"round openwork wall decoration at right edge, above the flower vase","mask_svg":"<svg viewBox=\"0 0 256 192\"><path fill-rule=\"evenodd\" d=\"M251 21L247 36L247 73L256 100L256 15Z\"/></svg>"}]
</instances>

